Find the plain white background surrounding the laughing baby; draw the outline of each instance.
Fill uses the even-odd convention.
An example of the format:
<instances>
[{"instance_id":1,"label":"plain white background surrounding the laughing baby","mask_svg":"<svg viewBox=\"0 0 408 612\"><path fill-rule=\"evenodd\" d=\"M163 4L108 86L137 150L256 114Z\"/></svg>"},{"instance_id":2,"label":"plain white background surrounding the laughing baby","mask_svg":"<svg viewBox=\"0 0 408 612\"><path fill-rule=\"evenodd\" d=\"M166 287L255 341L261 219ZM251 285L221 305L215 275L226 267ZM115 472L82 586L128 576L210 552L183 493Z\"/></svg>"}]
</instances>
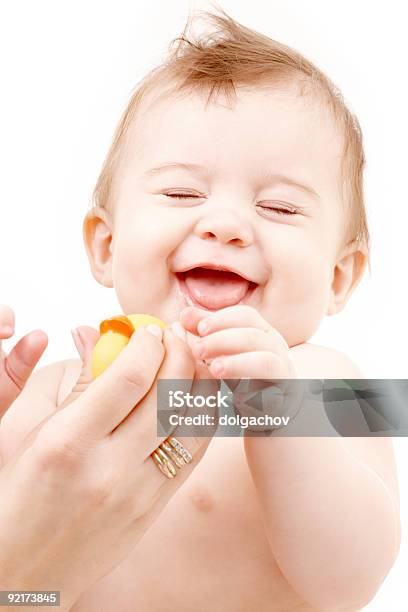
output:
<instances>
[{"instance_id":1,"label":"plain white background surrounding the laughing baby","mask_svg":"<svg viewBox=\"0 0 408 612\"><path fill-rule=\"evenodd\" d=\"M367 156L372 274L313 341L343 350L369 377L404 378L408 326L404 2L220 0L234 19L289 44L340 87ZM0 4L0 302L17 333L42 328L42 360L76 357L70 329L118 312L88 270L81 223L132 88L166 54L188 9L149 0ZM404 42L405 41L405 42ZM7 344L5 345L7 348ZM408 441L395 440L404 523L398 562L367 610L406 610ZM335 561L335 560L333 560Z\"/></svg>"}]
</instances>

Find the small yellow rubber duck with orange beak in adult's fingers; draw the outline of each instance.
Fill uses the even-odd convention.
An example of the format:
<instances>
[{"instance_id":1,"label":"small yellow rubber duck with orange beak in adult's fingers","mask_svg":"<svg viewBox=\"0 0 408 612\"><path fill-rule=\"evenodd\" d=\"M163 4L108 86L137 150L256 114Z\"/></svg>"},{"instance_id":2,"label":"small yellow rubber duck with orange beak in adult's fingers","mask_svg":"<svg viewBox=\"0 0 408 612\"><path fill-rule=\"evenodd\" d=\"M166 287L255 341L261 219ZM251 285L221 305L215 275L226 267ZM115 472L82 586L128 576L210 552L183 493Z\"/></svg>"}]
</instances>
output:
<instances>
[{"instance_id":1,"label":"small yellow rubber duck with orange beak in adult's fingers","mask_svg":"<svg viewBox=\"0 0 408 612\"><path fill-rule=\"evenodd\" d=\"M102 321L99 326L101 337L92 351L92 376L96 378L115 360L129 342L133 332L141 325L167 327L157 317L146 314L120 315Z\"/></svg>"}]
</instances>

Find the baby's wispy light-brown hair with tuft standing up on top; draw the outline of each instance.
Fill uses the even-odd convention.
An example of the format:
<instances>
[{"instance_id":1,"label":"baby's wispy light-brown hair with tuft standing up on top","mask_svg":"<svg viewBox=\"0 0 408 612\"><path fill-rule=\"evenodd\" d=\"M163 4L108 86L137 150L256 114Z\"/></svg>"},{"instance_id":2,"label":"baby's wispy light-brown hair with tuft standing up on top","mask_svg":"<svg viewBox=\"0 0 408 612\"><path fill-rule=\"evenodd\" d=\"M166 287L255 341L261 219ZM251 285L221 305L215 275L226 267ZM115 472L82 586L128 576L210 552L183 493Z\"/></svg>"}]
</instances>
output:
<instances>
[{"instance_id":1,"label":"baby's wispy light-brown hair with tuft standing up on top","mask_svg":"<svg viewBox=\"0 0 408 612\"><path fill-rule=\"evenodd\" d=\"M92 204L112 208L113 179L126 146L129 127L149 94L155 101L171 94L207 93L236 99L237 87L297 86L302 96L314 95L331 111L343 138L341 190L346 212L345 241L356 243L369 255L370 236L364 203L365 155L362 131L340 90L297 50L245 27L219 6L214 12L189 12L180 36L173 39L162 64L151 70L132 90L114 133L92 194ZM204 31L193 28L204 21ZM150 104L150 102L149 102Z\"/></svg>"}]
</instances>

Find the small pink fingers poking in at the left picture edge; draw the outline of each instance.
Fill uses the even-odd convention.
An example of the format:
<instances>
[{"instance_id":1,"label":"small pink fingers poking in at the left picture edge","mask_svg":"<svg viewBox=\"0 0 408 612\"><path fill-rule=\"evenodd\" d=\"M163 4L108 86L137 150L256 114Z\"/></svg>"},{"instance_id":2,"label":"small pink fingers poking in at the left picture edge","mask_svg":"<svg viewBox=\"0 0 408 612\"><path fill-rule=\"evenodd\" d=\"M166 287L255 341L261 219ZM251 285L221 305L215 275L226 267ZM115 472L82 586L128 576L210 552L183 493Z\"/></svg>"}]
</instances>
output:
<instances>
[{"instance_id":1,"label":"small pink fingers poking in at the left picture edge","mask_svg":"<svg viewBox=\"0 0 408 612\"><path fill-rule=\"evenodd\" d=\"M14 334L14 313L0 304L0 419L22 391L31 372L46 349L48 338L43 331L26 334L7 355L2 340Z\"/></svg>"}]
</instances>

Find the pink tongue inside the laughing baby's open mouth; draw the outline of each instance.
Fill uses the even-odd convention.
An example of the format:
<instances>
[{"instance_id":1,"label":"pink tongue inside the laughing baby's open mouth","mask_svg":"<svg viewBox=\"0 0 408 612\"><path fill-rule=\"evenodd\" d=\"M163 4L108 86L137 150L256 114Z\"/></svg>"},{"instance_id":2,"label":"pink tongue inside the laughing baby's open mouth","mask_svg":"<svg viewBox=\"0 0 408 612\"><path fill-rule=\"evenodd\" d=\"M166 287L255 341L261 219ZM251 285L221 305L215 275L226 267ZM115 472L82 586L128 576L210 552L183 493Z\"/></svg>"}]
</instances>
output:
<instances>
[{"instance_id":1,"label":"pink tongue inside the laughing baby's open mouth","mask_svg":"<svg viewBox=\"0 0 408 612\"><path fill-rule=\"evenodd\" d=\"M204 308L217 310L237 304L248 291L249 281L234 272L194 268L185 272L186 287Z\"/></svg>"}]
</instances>

